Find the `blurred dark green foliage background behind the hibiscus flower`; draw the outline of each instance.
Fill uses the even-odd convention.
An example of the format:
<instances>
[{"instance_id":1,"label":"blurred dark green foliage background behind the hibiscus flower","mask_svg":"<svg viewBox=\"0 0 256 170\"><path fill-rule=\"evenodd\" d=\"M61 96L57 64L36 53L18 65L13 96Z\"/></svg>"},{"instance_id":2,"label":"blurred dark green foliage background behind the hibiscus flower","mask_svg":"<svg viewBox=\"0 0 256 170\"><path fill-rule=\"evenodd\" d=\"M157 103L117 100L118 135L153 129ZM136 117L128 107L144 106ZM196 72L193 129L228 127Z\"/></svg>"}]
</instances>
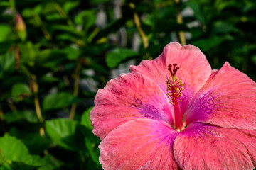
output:
<instances>
[{"instance_id":1,"label":"blurred dark green foliage background behind the hibiscus flower","mask_svg":"<svg viewBox=\"0 0 256 170\"><path fill-rule=\"evenodd\" d=\"M173 41L256 80L255 0L0 0L0 169L101 169L97 89Z\"/></svg>"}]
</instances>

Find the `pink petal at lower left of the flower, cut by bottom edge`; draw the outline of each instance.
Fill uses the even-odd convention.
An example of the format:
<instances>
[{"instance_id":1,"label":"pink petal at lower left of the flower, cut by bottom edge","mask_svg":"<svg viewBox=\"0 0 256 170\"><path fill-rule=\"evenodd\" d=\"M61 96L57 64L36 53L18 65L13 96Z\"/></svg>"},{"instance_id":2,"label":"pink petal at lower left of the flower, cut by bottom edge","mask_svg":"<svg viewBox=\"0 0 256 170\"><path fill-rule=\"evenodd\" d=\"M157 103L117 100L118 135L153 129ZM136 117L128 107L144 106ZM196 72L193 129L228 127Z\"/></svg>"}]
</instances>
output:
<instances>
[{"instance_id":1,"label":"pink petal at lower left of the flower, cut by bottom edge","mask_svg":"<svg viewBox=\"0 0 256 170\"><path fill-rule=\"evenodd\" d=\"M178 169L172 145L178 132L156 120L132 120L100 143L100 164L108 169Z\"/></svg>"}]
</instances>

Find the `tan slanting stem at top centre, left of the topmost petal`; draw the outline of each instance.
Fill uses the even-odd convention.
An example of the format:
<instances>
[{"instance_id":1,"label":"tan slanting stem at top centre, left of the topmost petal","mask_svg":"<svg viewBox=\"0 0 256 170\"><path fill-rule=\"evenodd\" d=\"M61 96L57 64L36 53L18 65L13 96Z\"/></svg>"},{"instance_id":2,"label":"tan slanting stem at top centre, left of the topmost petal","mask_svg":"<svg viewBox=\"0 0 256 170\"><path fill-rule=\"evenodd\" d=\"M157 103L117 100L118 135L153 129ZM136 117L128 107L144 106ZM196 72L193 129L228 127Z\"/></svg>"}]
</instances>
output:
<instances>
[{"instance_id":1,"label":"tan slanting stem at top centre, left of the topmost petal","mask_svg":"<svg viewBox=\"0 0 256 170\"><path fill-rule=\"evenodd\" d=\"M137 27L137 30L139 31L140 37L142 38L142 43L143 43L144 49L147 49L147 47L149 47L149 40L146 37L144 31L142 30L142 26L141 26L141 23L139 21L138 13L134 10L135 9L135 5L133 3L130 3L129 6L133 10L134 23L135 23L135 25Z\"/></svg>"}]
</instances>

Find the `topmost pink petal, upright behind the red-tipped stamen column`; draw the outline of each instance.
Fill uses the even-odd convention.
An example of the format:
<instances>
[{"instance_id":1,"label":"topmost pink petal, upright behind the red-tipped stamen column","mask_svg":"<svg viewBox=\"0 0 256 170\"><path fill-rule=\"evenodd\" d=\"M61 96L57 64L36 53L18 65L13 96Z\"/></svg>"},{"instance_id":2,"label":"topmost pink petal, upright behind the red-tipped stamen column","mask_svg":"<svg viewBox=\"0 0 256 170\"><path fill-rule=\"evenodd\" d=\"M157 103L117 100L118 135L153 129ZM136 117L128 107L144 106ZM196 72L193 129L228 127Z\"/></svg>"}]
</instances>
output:
<instances>
[{"instance_id":1,"label":"topmost pink petal, upright behind the red-tipped stamen column","mask_svg":"<svg viewBox=\"0 0 256 170\"><path fill-rule=\"evenodd\" d=\"M193 45L181 46L171 42L164 47L163 53L155 60L143 60L139 66L131 66L131 72L140 72L159 84L166 93L166 81L171 78L169 64L178 64L176 76L184 84L181 114L184 113L188 102L194 94L206 83L211 73L211 67L205 55Z\"/></svg>"}]
</instances>

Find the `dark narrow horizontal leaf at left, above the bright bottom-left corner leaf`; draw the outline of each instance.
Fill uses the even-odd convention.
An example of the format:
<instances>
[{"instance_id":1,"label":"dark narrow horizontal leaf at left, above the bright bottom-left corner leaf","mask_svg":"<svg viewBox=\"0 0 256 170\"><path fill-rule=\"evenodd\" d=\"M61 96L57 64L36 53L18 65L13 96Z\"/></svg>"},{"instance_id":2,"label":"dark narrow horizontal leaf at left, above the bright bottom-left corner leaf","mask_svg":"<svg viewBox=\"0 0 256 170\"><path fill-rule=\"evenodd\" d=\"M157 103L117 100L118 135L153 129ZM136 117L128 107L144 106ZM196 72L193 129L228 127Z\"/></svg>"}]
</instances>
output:
<instances>
[{"instance_id":1,"label":"dark narrow horizontal leaf at left, above the bright bottom-left corner leaf","mask_svg":"<svg viewBox=\"0 0 256 170\"><path fill-rule=\"evenodd\" d=\"M33 111L12 111L4 114L6 123L14 123L21 120L26 120L28 123L38 123L36 113Z\"/></svg>"}]
</instances>

